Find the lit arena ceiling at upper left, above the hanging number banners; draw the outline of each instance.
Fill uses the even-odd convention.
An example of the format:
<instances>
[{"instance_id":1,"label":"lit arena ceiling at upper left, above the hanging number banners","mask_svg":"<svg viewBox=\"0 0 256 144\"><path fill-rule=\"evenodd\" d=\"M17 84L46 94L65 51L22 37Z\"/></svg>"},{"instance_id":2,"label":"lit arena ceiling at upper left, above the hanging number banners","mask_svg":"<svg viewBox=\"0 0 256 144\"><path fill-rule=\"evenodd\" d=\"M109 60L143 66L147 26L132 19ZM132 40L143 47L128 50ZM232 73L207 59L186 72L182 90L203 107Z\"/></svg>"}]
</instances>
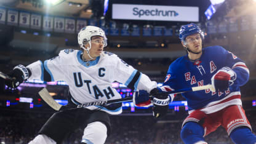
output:
<instances>
[{"instance_id":1,"label":"lit arena ceiling at upper left, above the hanging number banners","mask_svg":"<svg viewBox=\"0 0 256 144\"><path fill-rule=\"evenodd\" d=\"M92 15L89 0L60 0L50 4L53 1L56 0L0 0L0 6L65 17L90 18Z\"/></svg>"}]
</instances>

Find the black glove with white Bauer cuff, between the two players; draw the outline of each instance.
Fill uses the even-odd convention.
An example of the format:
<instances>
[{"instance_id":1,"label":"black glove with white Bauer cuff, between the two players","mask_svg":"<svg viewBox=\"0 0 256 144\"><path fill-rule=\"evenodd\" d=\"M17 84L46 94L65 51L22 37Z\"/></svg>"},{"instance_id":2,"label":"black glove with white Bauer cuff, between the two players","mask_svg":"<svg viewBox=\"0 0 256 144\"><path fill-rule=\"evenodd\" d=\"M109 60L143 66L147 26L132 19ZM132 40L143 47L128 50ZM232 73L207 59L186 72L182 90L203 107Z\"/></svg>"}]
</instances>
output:
<instances>
[{"instance_id":1,"label":"black glove with white Bauer cuff, between the two players","mask_svg":"<svg viewBox=\"0 0 256 144\"><path fill-rule=\"evenodd\" d=\"M169 108L170 98L168 94L159 95L159 90L154 88L150 91L153 95L153 116L154 118L162 118L166 115ZM156 95L158 94L158 95Z\"/></svg>"}]
</instances>

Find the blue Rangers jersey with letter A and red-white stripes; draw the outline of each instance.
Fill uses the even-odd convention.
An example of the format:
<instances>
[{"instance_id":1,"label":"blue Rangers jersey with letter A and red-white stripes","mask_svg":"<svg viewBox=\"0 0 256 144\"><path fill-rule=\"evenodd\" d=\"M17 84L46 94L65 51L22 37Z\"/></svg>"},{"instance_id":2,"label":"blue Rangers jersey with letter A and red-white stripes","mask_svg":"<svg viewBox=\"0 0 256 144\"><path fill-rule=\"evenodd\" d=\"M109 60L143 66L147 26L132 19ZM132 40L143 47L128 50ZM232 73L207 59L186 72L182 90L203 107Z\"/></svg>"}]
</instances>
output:
<instances>
[{"instance_id":1,"label":"blue Rangers jersey with letter A and red-white stripes","mask_svg":"<svg viewBox=\"0 0 256 144\"><path fill-rule=\"evenodd\" d=\"M200 109L204 113L214 113L229 105L242 105L239 87L249 79L249 69L236 55L221 46L202 49L199 60L192 62L188 55L175 60L167 71L166 80L160 89L170 91L211 84L212 76L221 68L228 66L236 73L234 83L223 93L210 89L183 93L188 102L188 110ZM172 97L173 100L174 96Z\"/></svg>"}]
</instances>

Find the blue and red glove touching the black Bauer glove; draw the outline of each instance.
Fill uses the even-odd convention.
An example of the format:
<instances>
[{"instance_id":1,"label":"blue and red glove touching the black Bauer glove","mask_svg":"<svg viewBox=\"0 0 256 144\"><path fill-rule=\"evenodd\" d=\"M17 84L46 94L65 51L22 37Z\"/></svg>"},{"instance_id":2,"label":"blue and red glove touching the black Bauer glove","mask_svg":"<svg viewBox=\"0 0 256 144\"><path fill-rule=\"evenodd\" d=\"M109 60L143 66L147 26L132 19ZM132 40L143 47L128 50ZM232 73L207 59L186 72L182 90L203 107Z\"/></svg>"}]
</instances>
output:
<instances>
[{"instance_id":1,"label":"blue and red glove touching the black Bauer glove","mask_svg":"<svg viewBox=\"0 0 256 144\"><path fill-rule=\"evenodd\" d=\"M146 90L134 92L133 101L135 106L148 107L151 106L150 94Z\"/></svg>"}]
</instances>

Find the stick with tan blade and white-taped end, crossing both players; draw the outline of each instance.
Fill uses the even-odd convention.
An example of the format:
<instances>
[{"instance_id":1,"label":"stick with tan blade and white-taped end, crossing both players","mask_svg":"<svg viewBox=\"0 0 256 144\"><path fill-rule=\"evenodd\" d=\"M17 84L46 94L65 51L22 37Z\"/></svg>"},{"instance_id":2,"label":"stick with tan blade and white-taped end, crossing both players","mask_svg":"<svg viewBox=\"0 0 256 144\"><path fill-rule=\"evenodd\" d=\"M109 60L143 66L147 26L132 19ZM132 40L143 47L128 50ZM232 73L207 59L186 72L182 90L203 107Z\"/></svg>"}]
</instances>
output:
<instances>
[{"instance_id":1,"label":"stick with tan blade and white-taped end, crossing both players","mask_svg":"<svg viewBox=\"0 0 256 144\"><path fill-rule=\"evenodd\" d=\"M206 86L199 86L199 87L190 87L187 89L179 89L179 90L173 90L170 92L162 92L156 95L161 95L161 94L180 94L183 92L191 92L191 91L198 91L198 90L204 90L204 89L210 89L213 90L213 87L211 84L206 85ZM42 99L54 110L58 111L62 107L59 103L55 102L54 98L50 96L48 90L46 88L42 89L39 91L39 95L42 97ZM98 102L90 102L90 103L81 103L77 106L77 108L85 108L87 106L102 106L102 105L107 105L107 104L112 104L112 103L121 103L121 102L129 102L132 101L132 97L126 97L126 98L119 98L116 100L106 100L106 101L98 101Z\"/></svg>"}]
</instances>

